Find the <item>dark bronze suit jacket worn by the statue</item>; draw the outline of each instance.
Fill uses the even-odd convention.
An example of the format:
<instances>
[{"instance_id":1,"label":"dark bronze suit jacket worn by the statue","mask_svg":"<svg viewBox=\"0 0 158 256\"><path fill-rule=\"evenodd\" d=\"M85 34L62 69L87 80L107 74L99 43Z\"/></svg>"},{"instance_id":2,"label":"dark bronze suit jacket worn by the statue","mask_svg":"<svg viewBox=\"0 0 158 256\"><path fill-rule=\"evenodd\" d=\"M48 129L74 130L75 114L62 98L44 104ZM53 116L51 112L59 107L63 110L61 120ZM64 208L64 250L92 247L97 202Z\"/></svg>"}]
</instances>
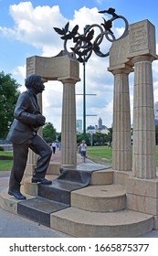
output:
<instances>
[{"instance_id":1,"label":"dark bronze suit jacket worn by the statue","mask_svg":"<svg viewBox=\"0 0 158 256\"><path fill-rule=\"evenodd\" d=\"M7 140L13 144L23 144L37 132L37 114L40 113L37 96L32 91L24 91L19 96Z\"/></svg>"}]
</instances>

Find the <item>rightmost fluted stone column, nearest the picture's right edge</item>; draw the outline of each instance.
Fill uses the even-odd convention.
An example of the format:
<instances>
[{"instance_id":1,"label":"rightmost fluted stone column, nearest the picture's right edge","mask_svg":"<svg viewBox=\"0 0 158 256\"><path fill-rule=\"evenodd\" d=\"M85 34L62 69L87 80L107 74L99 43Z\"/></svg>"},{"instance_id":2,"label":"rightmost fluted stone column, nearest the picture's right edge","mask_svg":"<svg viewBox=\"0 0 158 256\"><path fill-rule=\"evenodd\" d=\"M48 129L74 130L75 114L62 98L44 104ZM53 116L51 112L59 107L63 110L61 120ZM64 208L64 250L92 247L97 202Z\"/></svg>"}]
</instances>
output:
<instances>
[{"instance_id":1,"label":"rightmost fluted stone column, nearest the picture's right edge","mask_svg":"<svg viewBox=\"0 0 158 256\"><path fill-rule=\"evenodd\" d=\"M139 56L134 63L133 176L153 178L155 168L155 125L151 56Z\"/></svg>"}]
</instances>

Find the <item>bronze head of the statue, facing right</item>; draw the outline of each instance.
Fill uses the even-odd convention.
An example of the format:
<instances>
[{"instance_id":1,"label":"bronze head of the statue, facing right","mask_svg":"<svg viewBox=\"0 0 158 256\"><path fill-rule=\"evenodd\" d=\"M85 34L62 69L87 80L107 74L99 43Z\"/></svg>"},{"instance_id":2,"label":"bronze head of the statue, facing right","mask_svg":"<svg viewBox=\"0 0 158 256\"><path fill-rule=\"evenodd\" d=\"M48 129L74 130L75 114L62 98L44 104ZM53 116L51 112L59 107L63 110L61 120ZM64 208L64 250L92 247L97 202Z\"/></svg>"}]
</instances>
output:
<instances>
[{"instance_id":1,"label":"bronze head of the statue, facing right","mask_svg":"<svg viewBox=\"0 0 158 256\"><path fill-rule=\"evenodd\" d=\"M33 89L36 94L45 90L42 77L40 75L30 75L26 78L25 85L27 89Z\"/></svg>"}]
</instances>

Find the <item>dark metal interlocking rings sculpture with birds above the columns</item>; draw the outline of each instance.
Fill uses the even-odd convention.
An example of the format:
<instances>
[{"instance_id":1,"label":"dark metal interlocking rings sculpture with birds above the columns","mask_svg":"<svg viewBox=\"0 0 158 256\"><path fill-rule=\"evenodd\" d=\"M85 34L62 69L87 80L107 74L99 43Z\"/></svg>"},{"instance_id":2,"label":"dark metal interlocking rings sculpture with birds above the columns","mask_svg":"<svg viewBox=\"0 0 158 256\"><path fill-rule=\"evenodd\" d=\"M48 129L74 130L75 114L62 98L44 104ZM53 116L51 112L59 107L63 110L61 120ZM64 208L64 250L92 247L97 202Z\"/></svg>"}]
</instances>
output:
<instances>
[{"instance_id":1,"label":"dark metal interlocking rings sculpture with birds above the columns","mask_svg":"<svg viewBox=\"0 0 158 256\"><path fill-rule=\"evenodd\" d=\"M110 52L107 51L106 53L103 53L100 50L100 44L103 40L103 38L106 38L108 41L113 42L116 40L121 39L122 37L126 37L128 35L128 29L129 24L127 19L124 16L118 16L115 13L115 9L109 8L108 10L100 11L99 13L108 13L112 17L109 20L104 20L104 23L93 24L90 26L85 27L84 34L80 35L78 32L79 26L76 25L72 31L68 30L69 23L66 24L66 26L62 29L58 27L54 27L55 31L61 35L61 39L64 40L64 52L65 54L72 55L72 52L74 53L76 59L79 60L79 62L86 62L88 59L90 59L90 56L92 52L94 51L95 54L101 58L109 56ZM124 31L121 35L121 37L116 38L111 30L112 22L116 19L122 19L124 21ZM94 39L94 28L100 29L100 34ZM73 43L75 44L73 48L71 48L72 52L69 52L67 49L67 43L68 40L73 40ZM92 41L93 39L93 41ZM78 56L78 57L77 57Z\"/></svg>"}]
</instances>

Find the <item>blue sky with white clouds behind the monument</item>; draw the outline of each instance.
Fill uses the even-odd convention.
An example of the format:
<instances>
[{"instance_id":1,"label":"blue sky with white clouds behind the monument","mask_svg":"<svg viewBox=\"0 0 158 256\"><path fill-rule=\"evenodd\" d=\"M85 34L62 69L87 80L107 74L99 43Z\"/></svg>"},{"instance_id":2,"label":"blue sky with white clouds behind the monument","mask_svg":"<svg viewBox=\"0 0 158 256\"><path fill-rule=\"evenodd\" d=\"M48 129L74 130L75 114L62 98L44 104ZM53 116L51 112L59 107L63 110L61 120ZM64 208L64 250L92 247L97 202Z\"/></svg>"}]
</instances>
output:
<instances>
[{"instance_id":1,"label":"blue sky with white clouds behind the monument","mask_svg":"<svg viewBox=\"0 0 158 256\"><path fill-rule=\"evenodd\" d=\"M79 33L86 25L102 23L106 14L100 10L110 7L124 16L129 24L148 19L155 26L158 54L157 0L0 0L0 71L11 74L25 91L26 58L53 57L63 49L63 40L53 27L79 25ZM119 26L119 24L118 24ZM122 26L122 24L121 24ZM121 28L121 27L120 27ZM117 27L115 27L117 31ZM106 46L110 48L109 44ZM107 127L112 125L113 75L108 71L109 57L94 53L86 63L86 126L98 124L99 118ZM83 65L79 64L80 81L76 84L77 119L83 119ZM61 131L63 86L49 81L43 92L43 113L46 122ZM158 60L153 61L154 101L158 101ZM133 100L133 74L130 75L131 112Z\"/></svg>"}]
</instances>

